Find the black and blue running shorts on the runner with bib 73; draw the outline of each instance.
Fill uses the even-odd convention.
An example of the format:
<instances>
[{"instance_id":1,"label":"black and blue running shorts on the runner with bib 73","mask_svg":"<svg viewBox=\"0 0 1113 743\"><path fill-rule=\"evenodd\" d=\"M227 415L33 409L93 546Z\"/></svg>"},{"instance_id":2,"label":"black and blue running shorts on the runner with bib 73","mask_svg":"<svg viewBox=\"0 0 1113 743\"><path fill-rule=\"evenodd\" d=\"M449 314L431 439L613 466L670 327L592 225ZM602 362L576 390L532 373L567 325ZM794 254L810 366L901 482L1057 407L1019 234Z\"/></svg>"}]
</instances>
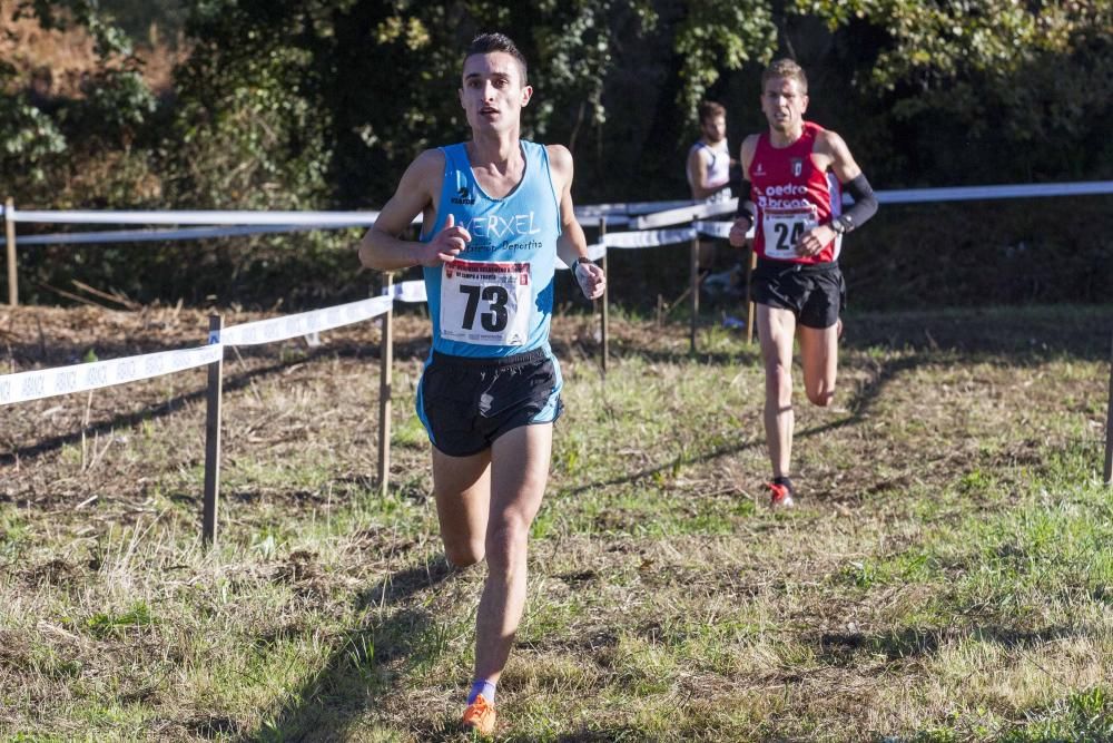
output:
<instances>
[{"instance_id":1,"label":"black and blue running shorts on the runner with bib 73","mask_svg":"<svg viewBox=\"0 0 1113 743\"><path fill-rule=\"evenodd\" d=\"M560 418L560 366L546 349L470 359L433 352L417 385L417 417L450 457L470 457L500 436Z\"/></svg>"}]
</instances>

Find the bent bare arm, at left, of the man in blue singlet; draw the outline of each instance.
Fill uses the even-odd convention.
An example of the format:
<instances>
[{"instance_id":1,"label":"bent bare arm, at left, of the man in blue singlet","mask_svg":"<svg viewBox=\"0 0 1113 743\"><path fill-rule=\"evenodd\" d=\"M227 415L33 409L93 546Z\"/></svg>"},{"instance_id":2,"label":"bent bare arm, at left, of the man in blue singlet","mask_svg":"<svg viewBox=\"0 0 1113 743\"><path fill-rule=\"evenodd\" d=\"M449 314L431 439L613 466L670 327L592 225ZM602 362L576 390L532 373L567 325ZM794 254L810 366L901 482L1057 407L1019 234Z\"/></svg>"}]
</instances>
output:
<instances>
[{"instance_id":1,"label":"bent bare arm, at left, of the man in blue singlet","mask_svg":"<svg viewBox=\"0 0 1113 743\"><path fill-rule=\"evenodd\" d=\"M453 224L452 215L449 215L444 227L429 243L398 237L418 214L423 215L426 226L433 225L443 176L444 153L441 150L426 149L410 164L394 196L363 236L359 243L359 263L368 268L395 271L415 265L436 266L454 260L471 239L471 235L463 227Z\"/></svg>"}]
</instances>

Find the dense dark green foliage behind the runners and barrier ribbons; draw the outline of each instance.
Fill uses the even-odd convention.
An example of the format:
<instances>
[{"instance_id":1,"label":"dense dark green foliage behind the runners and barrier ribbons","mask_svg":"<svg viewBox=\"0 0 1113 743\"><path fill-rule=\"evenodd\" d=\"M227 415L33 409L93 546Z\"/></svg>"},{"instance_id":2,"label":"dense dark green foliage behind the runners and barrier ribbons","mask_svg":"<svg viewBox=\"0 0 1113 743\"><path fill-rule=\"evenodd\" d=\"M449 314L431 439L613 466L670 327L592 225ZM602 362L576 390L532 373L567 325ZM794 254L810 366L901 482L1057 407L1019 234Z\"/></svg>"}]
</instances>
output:
<instances>
[{"instance_id":1,"label":"dense dark green foliage behind the runners and barrier ribbons","mask_svg":"<svg viewBox=\"0 0 1113 743\"><path fill-rule=\"evenodd\" d=\"M180 28L189 48L173 89L157 94L131 48L146 4L152 20ZM526 136L573 149L580 203L687 195L682 162L696 136L695 104L712 97L727 105L729 135L739 141L764 126L761 66L785 55L809 71L810 117L844 135L878 188L1113 177L1113 3L1100 0L22 0L17 7L47 28L87 29L98 55L81 94L63 99L35 96L28 80L0 66L0 186L21 204L380 206L421 149L466 136L456 99L460 56L487 29L515 38L531 60L536 95ZM1070 222L1073 208L1055 202L1057 221L1034 227L1047 233L1035 238L1041 251L1072 251L1055 241L1063 233L1056 225ZM1097 211L1100 234L1113 226L1107 212ZM301 301L335 292L329 276L349 257L333 248L351 238L208 245L196 251L204 255L196 266L211 275L193 282L195 293L185 299L263 301L278 291ZM945 244L962 238L943 237ZM1001 236L1003 245L1022 239ZM29 270L52 283L73 272L145 299L175 299L168 295L175 283L161 277L180 251L145 251L137 262L125 257L130 248L89 248L77 263L53 260L73 254L59 248L38 253ZM1092 265L1113 257L1107 238L1085 251ZM290 261L299 278L313 281L277 289L267 277L288 274ZM259 281L267 289L256 295ZM348 276L341 283L354 286Z\"/></svg>"}]
</instances>

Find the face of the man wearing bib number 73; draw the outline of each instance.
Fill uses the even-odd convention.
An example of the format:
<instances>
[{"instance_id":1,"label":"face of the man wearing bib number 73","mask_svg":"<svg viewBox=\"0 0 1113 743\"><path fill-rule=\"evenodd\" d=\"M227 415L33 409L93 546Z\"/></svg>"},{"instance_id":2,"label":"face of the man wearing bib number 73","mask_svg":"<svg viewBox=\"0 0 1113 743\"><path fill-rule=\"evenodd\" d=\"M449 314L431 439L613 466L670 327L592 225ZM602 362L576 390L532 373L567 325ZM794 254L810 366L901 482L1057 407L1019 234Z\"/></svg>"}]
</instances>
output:
<instances>
[{"instance_id":1,"label":"face of the man wearing bib number 73","mask_svg":"<svg viewBox=\"0 0 1113 743\"><path fill-rule=\"evenodd\" d=\"M464 60L460 105L474 130L516 129L533 88L522 85L522 68L504 51L472 55Z\"/></svg>"}]
</instances>

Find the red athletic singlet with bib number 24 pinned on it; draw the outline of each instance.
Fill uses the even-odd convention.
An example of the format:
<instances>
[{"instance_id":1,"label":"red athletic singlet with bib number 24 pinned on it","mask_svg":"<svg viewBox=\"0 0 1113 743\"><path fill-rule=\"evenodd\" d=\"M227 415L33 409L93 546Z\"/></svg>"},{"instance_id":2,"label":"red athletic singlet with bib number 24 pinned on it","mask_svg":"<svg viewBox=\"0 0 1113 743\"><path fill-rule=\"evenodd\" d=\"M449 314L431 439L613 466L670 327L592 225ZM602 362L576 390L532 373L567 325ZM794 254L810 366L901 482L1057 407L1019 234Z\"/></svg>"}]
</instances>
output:
<instances>
[{"instance_id":1,"label":"red athletic singlet with bib number 24 pinned on it","mask_svg":"<svg viewBox=\"0 0 1113 743\"><path fill-rule=\"evenodd\" d=\"M758 207L754 250L770 261L830 263L838 260L841 235L836 235L810 257L796 254L800 235L843 213L843 195L834 173L816 167L811 150L823 127L804 123L804 135L788 147L769 144L769 133L758 137L749 180Z\"/></svg>"}]
</instances>

